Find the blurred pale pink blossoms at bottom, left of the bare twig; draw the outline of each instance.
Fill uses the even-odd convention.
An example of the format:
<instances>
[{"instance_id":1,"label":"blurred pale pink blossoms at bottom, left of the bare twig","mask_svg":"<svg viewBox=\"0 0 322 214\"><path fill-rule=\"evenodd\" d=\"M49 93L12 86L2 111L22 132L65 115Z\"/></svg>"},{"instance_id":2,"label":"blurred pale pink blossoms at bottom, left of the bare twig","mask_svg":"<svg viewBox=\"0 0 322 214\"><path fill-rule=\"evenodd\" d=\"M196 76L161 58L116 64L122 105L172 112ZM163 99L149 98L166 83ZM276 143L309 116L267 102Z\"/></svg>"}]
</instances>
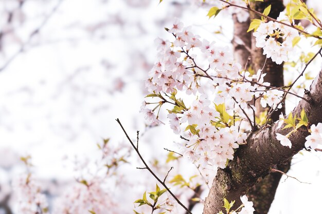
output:
<instances>
[{"instance_id":1,"label":"blurred pale pink blossoms at bottom, left of the bare twig","mask_svg":"<svg viewBox=\"0 0 322 214\"><path fill-rule=\"evenodd\" d=\"M78 179L57 199L53 213L103 214L107 209L108 213L119 213L120 206L111 190L124 182L117 170L127 162L130 147L124 144L115 146L110 144L110 139L103 139L97 146L100 155L94 163L75 163Z\"/></svg>"}]
</instances>

